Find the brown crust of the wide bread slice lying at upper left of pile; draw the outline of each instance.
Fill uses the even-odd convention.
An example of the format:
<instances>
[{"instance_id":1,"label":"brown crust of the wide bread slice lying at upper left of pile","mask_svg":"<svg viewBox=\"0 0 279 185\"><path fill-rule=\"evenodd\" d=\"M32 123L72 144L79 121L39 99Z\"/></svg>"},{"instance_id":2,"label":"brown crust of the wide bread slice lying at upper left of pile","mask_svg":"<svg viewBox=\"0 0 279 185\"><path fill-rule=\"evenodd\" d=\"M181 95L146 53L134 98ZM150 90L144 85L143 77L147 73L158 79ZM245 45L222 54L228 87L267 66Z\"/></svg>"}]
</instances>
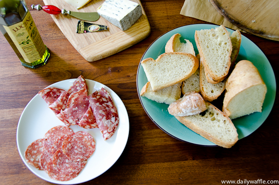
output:
<instances>
[{"instance_id":1,"label":"brown crust of the wide bread slice lying at upper left of pile","mask_svg":"<svg viewBox=\"0 0 279 185\"><path fill-rule=\"evenodd\" d=\"M180 78L180 79L178 79L178 80L174 80L174 79L173 79L172 81L170 81L170 82L167 83L167 84L162 84L160 87L153 87L153 86L152 86L152 81L149 80L149 79L150 79L150 78L149 78L149 74L146 73L146 72L144 71L144 72L145 72L145 75L146 75L146 77L147 77L147 80L150 82L150 85L151 85L153 91L157 91L157 90L163 89L163 88L165 88L165 87L169 87L169 86L171 86L171 85L174 85L174 84L176 84L176 83L179 83L179 82L182 82L182 81L186 80L187 78L189 78L192 74L194 74L194 73L196 72L197 68L199 67L199 61L198 61L198 59L197 59L194 55L192 55L192 54L190 54L190 53L183 53L183 52L163 53L163 54L159 55L158 58L157 58L156 60L154 60L153 58L146 58L146 59L144 59L144 60L141 61L141 64L143 64L143 65L144 65L145 63L148 63L148 62L154 62L154 63L156 63L156 62L160 62L161 58L163 58L163 57L166 56L166 55L177 55L177 54L185 55L185 56L190 57L190 58L192 59L192 69L191 69L191 71L190 71L187 75L181 75L181 78ZM142 65L142 66L143 66L143 65ZM144 69L144 66L143 66L143 69ZM175 72L175 71L174 71L174 72Z\"/></svg>"}]
</instances>

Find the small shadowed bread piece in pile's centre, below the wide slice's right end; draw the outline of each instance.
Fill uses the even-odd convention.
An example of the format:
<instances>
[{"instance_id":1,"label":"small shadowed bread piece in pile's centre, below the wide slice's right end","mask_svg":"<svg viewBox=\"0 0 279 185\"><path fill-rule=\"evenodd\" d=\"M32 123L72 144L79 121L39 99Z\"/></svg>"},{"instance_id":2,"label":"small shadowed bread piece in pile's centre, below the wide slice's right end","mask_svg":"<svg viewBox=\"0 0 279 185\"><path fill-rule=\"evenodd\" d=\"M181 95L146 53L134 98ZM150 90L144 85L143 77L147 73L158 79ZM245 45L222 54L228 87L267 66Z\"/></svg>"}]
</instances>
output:
<instances>
[{"instance_id":1,"label":"small shadowed bread piece in pile's centre, below the wide slice's right end","mask_svg":"<svg viewBox=\"0 0 279 185\"><path fill-rule=\"evenodd\" d=\"M182 82L181 92L184 95L185 93L195 91L197 93L200 92L200 70L199 68L196 70L192 76L187 78Z\"/></svg>"}]
</instances>

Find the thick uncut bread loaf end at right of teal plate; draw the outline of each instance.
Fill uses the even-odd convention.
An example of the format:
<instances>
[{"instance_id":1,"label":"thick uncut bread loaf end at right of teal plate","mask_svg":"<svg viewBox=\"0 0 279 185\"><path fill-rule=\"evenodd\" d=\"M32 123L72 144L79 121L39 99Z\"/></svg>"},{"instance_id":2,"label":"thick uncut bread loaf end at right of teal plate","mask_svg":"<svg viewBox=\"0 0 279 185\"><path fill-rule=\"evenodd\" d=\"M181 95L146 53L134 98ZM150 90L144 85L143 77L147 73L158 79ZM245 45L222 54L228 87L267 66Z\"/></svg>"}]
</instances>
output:
<instances>
[{"instance_id":1,"label":"thick uncut bread loaf end at right of teal plate","mask_svg":"<svg viewBox=\"0 0 279 185\"><path fill-rule=\"evenodd\" d=\"M267 86L248 60L239 61L226 82L223 112L231 119L262 112Z\"/></svg>"}]
</instances>

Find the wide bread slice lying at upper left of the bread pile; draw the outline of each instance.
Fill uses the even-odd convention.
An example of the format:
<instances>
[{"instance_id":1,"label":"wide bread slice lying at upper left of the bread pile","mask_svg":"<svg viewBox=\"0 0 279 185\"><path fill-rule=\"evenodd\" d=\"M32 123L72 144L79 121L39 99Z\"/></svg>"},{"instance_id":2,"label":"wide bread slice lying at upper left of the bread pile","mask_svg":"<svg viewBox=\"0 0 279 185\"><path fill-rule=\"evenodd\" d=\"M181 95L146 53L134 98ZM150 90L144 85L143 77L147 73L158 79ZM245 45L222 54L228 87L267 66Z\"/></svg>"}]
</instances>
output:
<instances>
[{"instance_id":1,"label":"wide bread slice lying at upper left of the bread pile","mask_svg":"<svg viewBox=\"0 0 279 185\"><path fill-rule=\"evenodd\" d=\"M156 60L141 61L152 91L182 82L194 74L199 66L198 59L190 53L163 53Z\"/></svg>"}]
</instances>

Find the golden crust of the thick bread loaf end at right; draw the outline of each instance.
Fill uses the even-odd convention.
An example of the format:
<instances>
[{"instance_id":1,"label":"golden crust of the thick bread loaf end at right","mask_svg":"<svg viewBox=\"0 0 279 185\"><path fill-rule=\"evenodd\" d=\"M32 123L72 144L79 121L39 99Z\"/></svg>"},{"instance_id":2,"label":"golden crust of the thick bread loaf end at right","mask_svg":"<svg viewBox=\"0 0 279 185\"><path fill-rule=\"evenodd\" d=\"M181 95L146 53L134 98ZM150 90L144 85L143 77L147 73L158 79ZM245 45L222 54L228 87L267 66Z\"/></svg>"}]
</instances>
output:
<instances>
[{"instance_id":1,"label":"golden crust of the thick bread loaf end at right","mask_svg":"<svg viewBox=\"0 0 279 185\"><path fill-rule=\"evenodd\" d=\"M231 75L228 77L226 82L226 93L223 101L223 112L227 116L231 116L231 111L228 109L228 105L233 98L240 92L255 86L264 84L262 76L254 64L248 60L239 61ZM266 85L265 85L266 88ZM266 88L267 92L267 88ZM261 100L263 103L265 97Z\"/></svg>"}]
</instances>

